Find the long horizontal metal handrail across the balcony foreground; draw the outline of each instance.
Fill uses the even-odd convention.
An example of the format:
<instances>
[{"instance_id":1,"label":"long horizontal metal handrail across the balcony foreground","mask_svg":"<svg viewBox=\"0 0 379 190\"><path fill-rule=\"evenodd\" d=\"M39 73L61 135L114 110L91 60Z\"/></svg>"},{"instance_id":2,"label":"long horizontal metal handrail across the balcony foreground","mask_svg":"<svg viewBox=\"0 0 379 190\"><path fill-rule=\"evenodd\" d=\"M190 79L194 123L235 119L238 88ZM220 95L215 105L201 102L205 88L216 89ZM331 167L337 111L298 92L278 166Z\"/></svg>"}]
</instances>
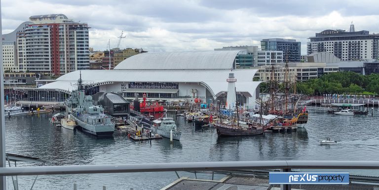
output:
<instances>
[{"instance_id":1,"label":"long horizontal metal handrail across the balcony foreground","mask_svg":"<svg viewBox=\"0 0 379 190\"><path fill-rule=\"evenodd\" d=\"M277 160L277 161L215 161L215 162L174 162L136 163L121 165L64 165L0 168L0 176L53 175L163 171L215 171L240 169L379 169L379 161L318 161L318 160Z\"/></svg>"}]
</instances>

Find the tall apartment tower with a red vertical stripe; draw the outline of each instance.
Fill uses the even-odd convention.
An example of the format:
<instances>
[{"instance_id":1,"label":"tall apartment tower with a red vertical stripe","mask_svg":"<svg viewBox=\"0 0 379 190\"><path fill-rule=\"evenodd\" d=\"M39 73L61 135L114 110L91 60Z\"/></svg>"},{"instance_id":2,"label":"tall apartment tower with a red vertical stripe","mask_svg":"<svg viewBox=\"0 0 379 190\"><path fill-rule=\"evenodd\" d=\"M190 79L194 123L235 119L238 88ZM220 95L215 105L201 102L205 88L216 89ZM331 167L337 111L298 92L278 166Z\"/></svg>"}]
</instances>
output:
<instances>
[{"instance_id":1,"label":"tall apartment tower with a red vertical stripe","mask_svg":"<svg viewBox=\"0 0 379 190\"><path fill-rule=\"evenodd\" d=\"M89 69L86 23L63 14L31 16L23 30L17 31L17 61L20 71L62 75Z\"/></svg>"}]
</instances>

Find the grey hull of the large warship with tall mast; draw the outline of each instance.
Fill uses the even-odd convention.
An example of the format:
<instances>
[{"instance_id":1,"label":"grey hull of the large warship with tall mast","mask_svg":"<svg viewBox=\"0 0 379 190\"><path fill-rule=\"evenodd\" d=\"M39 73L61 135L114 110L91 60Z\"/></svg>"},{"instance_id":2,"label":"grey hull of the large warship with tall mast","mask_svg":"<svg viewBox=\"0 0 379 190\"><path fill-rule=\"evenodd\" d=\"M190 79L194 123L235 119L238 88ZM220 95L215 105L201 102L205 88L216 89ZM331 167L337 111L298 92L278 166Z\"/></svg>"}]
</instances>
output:
<instances>
[{"instance_id":1,"label":"grey hull of the large warship with tall mast","mask_svg":"<svg viewBox=\"0 0 379 190\"><path fill-rule=\"evenodd\" d=\"M83 132L95 135L95 136L112 136L114 133L114 124L108 125L90 125L78 118L71 115L75 119L76 124L80 127Z\"/></svg>"}]
</instances>

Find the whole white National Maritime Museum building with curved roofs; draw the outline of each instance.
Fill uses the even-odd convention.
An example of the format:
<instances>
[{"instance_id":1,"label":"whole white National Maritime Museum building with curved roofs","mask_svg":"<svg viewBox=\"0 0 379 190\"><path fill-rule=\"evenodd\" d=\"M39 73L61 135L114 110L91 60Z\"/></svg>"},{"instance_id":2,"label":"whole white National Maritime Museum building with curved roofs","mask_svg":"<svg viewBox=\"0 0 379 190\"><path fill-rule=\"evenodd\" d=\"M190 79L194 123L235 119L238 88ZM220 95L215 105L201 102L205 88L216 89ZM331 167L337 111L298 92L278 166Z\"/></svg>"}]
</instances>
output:
<instances>
[{"instance_id":1,"label":"whole white National Maritime Museum building with curved roofs","mask_svg":"<svg viewBox=\"0 0 379 190\"><path fill-rule=\"evenodd\" d=\"M146 94L151 100L191 103L197 98L204 103L220 100L225 105L227 78L234 73L238 102L253 107L261 82L253 81L256 69L235 69L238 52L150 52L132 56L114 70L81 70L81 78L89 95L106 91L134 99L138 93L140 98ZM29 101L62 102L76 89L79 75L77 70L39 88L17 90L27 93Z\"/></svg>"}]
</instances>

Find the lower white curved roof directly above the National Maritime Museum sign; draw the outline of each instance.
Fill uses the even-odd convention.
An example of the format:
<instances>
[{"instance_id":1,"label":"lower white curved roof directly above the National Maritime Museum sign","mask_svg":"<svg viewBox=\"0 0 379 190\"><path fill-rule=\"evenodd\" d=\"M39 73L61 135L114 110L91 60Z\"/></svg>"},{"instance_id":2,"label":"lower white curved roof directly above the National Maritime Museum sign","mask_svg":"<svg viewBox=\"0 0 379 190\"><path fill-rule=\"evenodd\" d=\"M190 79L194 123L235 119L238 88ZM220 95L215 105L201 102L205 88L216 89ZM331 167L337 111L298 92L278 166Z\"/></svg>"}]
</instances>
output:
<instances>
[{"instance_id":1,"label":"lower white curved roof directly above the National Maritime Museum sign","mask_svg":"<svg viewBox=\"0 0 379 190\"><path fill-rule=\"evenodd\" d=\"M198 82L207 86L213 95L227 91L227 77L233 72L237 79L237 92L248 92L255 97L255 90L261 82L253 81L256 69L249 70L82 70L84 84L105 82ZM67 73L56 82L39 87L40 90L76 89L80 71Z\"/></svg>"}]
</instances>

